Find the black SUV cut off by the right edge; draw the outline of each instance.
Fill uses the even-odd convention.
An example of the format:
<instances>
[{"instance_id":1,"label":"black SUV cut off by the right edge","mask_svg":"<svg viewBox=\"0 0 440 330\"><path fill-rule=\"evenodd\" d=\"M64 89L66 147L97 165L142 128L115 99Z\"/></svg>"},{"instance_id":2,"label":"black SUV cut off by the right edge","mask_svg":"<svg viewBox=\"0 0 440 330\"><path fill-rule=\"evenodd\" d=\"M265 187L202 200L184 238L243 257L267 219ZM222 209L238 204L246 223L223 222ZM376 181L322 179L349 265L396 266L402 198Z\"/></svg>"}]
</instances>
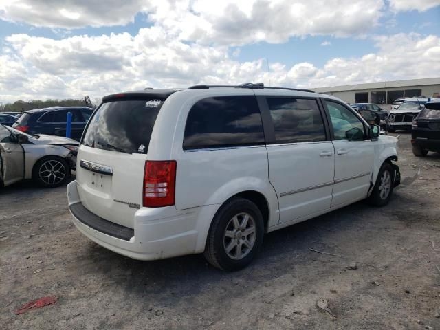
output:
<instances>
[{"instance_id":1,"label":"black SUV cut off by the right edge","mask_svg":"<svg viewBox=\"0 0 440 330\"><path fill-rule=\"evenodd\" d=\"M440 153L440 100L425 103L412 122L412 153L417 157L428 151Z\"/></svg>"}]
</instances>

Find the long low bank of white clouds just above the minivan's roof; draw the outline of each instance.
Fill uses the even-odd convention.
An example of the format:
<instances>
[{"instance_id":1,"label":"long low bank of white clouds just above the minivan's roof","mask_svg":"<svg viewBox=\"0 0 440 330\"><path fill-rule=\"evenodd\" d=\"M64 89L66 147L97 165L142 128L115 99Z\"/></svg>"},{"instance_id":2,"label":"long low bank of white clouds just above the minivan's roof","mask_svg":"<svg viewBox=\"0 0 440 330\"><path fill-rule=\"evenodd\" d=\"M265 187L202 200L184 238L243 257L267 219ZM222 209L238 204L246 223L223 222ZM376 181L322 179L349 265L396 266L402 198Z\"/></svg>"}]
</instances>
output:
<instances>
[{"instance_id":1,"label":"long low bank of white clouds just above the minivan's roof","mask_svg":"<svg viewBox=\"0 0 440 330\"><path fill-rule=\"evenodd\" d=\"M0 56L0 101L30 98L92 98L144 87L262 82L287 87L323 87L371 81L426 78L436 73L440 37L375 36L377 51L314 63L240 62L230 47L174 39L162 28L135 36L72 36L54 40L14 34Z\"/></svg>"}]
</instances>

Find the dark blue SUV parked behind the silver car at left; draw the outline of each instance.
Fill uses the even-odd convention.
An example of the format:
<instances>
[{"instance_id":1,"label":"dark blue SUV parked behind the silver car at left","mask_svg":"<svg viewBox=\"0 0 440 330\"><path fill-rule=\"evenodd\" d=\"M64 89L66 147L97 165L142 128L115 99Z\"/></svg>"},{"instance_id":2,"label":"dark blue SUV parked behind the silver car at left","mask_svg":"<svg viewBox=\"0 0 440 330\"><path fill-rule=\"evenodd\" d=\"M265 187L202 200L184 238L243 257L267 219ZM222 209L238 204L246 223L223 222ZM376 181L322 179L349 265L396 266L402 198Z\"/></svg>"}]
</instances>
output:
<instances>
[{"instance_id":1,"label":"dark blue SUV parked behind the silver car at left","mask_svg":"<svg viewBox=\"0 0 440 330\"><path fill-rule=\"evenodd\" d=\"M34 134L66 136L67 113L72 113L72 139L80 140L94 109L88 107L52 107L24 111L13 125L15 129Z\"/></svg>"}]
</instances>

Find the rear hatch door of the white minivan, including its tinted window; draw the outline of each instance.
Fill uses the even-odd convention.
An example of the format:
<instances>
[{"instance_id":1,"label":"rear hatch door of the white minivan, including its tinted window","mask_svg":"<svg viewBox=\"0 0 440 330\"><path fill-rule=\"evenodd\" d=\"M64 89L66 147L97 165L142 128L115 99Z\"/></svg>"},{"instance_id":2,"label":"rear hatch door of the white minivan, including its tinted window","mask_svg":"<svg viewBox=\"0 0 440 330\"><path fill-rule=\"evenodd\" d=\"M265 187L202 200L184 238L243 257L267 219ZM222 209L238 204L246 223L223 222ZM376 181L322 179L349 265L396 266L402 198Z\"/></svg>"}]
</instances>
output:
<instances>
[{"instance_id":1,"label":"rear hatch door of the white minivan, including its tinted window","mask_svg":"<svg viewBox=\"0 0 440 330\"><path fill-rule=\"evenodd\" d=\"M115 94L103 99L78 150L76 181L89 211L133 228L142 207L144 166L153 126L171 94Z\"/></svg>"}]
</instances>

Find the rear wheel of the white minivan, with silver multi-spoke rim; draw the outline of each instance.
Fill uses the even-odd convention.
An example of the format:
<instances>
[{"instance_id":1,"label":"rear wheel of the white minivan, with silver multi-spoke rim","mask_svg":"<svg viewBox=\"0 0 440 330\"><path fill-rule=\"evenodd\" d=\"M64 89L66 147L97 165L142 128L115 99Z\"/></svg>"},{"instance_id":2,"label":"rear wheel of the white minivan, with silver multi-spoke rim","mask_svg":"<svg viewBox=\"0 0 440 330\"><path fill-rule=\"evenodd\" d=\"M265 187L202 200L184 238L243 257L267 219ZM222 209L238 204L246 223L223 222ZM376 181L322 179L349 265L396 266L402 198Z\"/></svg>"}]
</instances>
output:
<instances>
[{"instance_id":1,"label":"rear wheel of the white minivan, with silver multi-spoke rim","mask_svg":"<svg viewBox=\"0 0 440 330\"><path fill-rule=\"evenodd\" d=\"M241 270L249 265L263 244L263 214L252 201L232 199L215 215L205 258L221 270Z\"/></svg>"}]
</instances>

